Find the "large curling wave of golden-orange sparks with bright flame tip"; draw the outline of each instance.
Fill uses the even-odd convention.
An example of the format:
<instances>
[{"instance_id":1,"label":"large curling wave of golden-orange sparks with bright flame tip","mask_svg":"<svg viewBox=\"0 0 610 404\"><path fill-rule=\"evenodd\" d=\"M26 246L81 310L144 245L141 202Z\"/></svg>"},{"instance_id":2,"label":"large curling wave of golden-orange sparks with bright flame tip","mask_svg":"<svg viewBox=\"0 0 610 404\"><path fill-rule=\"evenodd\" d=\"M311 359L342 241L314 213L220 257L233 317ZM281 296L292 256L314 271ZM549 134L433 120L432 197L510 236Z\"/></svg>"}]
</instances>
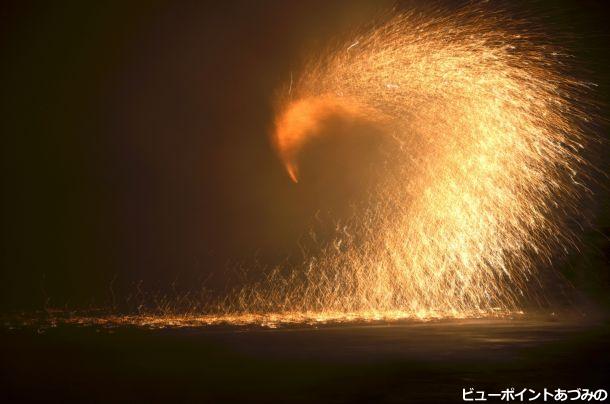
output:
<instances>
[{"instance_id":1,"label":"large curling wave of golden-orange sparks with bright flame tip","mask_svg":"<svg viewBox=\"0 0 610 404\"><path fill-rule=\"evenodd\" d=\"M473 8L403 12L311 58L280 92L272 136L290 178L331 117L377 125L398 163L321 253L242 290L244 307L519 310L541 292L541 264L575 242L566 221L586 191L587 85L563 59L527 24Z\"/></svg>"}]
</instances>

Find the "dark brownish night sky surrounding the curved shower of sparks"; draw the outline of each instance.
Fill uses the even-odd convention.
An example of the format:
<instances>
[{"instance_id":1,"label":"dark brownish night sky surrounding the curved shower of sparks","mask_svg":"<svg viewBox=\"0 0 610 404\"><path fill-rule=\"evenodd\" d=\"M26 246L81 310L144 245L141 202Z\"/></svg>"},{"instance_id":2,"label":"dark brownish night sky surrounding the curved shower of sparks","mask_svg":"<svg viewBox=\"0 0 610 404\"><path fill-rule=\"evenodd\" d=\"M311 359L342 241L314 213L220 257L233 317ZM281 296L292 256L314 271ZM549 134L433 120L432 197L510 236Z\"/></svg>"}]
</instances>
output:
<instances>
[{"instance_id":1,"label":"dark brownish night sky surrounding the curved shower of sparks","mask_svg":"<svg viewBox=\"0 0 610 404\"><path fill-rule=\"evenodd\" d=\"M222 284L237 262L293 253L319 201L290 182L269 144L273 92L304 50L387 4L3 3L3 309L103 305L111 288L188 286L212 273ZM605 2L510 8L572 50L607 117ZM608 198L595 191L583 253L561 269L604 303Z\"/></svg>"}]
</instances>

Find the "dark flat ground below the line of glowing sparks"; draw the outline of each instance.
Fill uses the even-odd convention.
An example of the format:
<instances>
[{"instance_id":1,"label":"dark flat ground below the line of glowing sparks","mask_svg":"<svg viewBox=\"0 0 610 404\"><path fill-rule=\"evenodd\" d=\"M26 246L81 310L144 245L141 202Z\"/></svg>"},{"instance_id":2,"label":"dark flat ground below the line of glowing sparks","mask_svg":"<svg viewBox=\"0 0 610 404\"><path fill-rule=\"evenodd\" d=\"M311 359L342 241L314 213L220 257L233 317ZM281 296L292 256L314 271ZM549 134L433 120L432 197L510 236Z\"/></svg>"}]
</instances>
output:
<instances>
[{"instance_id":1,"label":"dark flat ground below the line of glowing sparks","mask_svg":"<svg viewBox=\"0 0 610 404\"><path fill-rule=\"evenodd\" d=\"M4 329L2 401L438 403L462 402L470 387L607 390L609 343L608 322L549 320Z\"/></svg>"}]
</instances>

